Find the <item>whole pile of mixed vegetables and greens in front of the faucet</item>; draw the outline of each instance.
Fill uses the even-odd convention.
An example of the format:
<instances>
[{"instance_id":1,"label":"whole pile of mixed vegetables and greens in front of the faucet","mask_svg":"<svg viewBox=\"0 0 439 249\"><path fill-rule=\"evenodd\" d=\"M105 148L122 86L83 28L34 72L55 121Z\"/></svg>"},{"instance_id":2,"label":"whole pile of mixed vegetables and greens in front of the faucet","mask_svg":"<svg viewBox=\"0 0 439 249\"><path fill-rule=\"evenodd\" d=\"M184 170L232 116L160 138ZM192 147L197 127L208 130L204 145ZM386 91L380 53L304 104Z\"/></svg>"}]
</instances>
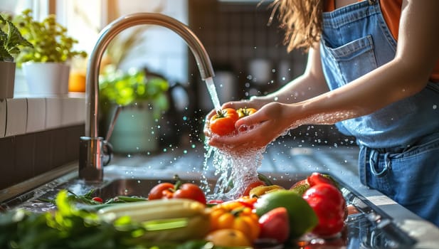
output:
<instances>
[{"instance_id":1,"label":"whole pile of mixed vegetables and greens in front of the faucet","mask_svg":"<svg viewBox=\"0 0 439 249\"><path fill-rule=\"evenodd\" d=\"M49 200L55 211L0 214L0 248L251 248L267 241L295 245L306 234L339 236L344 228L346 202L323 174L290 189L249 186L230 201L206 201L199 186L179 181L126 200L63 190Z\"/></svg>"}]
</instances>

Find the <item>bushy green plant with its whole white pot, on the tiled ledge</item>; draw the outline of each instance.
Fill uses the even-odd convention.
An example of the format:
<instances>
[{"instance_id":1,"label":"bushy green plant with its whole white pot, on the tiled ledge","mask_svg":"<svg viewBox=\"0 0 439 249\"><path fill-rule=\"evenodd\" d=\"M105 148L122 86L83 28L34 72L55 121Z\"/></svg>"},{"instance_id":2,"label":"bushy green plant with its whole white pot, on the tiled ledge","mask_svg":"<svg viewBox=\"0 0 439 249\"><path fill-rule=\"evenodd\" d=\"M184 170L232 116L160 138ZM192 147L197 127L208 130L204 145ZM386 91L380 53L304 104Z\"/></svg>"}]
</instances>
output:
<instances>
[{"instance_id":1,"label":"bushy green plant with its whole white pot, on the tiled ledge","mask_svg":"<svg viewBox=\"0 0 439 249\"><path fill-rule=\"evenodd\" d=\"M29 93L65 94L68 92L69 60L75 56L85 58L87 53L73 49L78 41L68 36L67 28L56 22L55 15L36 21L31 13L26 9L13 19L23 37L33 45L18 54L17 65L23 68Z\"/></svg>"}]
</instances>

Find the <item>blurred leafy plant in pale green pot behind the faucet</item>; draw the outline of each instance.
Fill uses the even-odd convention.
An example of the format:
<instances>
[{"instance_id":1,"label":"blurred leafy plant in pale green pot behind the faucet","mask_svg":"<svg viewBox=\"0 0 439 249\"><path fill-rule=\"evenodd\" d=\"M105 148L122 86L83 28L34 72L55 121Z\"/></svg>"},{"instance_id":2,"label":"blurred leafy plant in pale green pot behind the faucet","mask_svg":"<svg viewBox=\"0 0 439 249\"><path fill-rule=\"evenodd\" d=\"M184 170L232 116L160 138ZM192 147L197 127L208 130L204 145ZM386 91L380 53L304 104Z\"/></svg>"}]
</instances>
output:
<instances>
[{"instance_id":1,"label":"blurred leafy plant in pale green pot behind the faucet","mask_svg":"<svg viewBox=\"0 0 439 249\"><path fill-rule=\"evenodd\" d=\"M157 151L159 117L169 108L168 81L144 69L123 71L107 65L99 85L104 128L110 127L114 113L120 111L110 136L114 152Z\"/></svg>"}]
</instances>

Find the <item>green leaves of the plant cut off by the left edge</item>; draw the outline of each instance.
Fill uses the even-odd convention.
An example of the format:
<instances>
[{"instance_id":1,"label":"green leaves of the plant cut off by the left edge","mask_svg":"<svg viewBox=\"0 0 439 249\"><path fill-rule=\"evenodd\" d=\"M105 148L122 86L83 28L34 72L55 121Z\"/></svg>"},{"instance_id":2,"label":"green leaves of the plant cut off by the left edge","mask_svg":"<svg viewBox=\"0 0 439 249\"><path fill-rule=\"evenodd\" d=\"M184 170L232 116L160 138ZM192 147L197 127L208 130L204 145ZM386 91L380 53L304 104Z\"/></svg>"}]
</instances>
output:
<instances>
[{"instance_id":1,"label":"green leaves of the plant cut off by the left edge","mask_svg":"<svg viewBox=\"0 0 439 249\"><path fill-rule=\"evenodd\" d=\"M19 46L32 48L14 23L0 15L0 61L14 61L14 56L20 53Z\"/></svg>"}]
</instances>

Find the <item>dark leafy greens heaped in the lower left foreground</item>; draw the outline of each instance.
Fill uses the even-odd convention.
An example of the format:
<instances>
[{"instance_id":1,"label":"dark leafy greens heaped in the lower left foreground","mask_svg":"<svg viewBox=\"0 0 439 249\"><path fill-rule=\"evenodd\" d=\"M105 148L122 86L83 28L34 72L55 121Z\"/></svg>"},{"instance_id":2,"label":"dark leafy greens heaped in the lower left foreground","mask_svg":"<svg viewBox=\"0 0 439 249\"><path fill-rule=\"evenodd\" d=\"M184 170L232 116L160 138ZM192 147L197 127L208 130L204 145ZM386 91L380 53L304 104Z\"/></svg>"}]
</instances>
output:
<instances>
[{"instance_id":1,"label":"dark leafy greens heaped in the lower left foreground","mask_svg":"<svg viewBox=\"0 0 439 249\"><path fill-rule=\"evenodd\" d=\"M58 193L55 203L57 208L52 212L31 213L17 209L0 213L0 248L213 248L204 240L173 243L142 239L148 227L157 231L184 226L185 222L179 219L139 224L123 216L107 221L93 211L75 208L65 190Z\"/></svg>"}]
</instances>

